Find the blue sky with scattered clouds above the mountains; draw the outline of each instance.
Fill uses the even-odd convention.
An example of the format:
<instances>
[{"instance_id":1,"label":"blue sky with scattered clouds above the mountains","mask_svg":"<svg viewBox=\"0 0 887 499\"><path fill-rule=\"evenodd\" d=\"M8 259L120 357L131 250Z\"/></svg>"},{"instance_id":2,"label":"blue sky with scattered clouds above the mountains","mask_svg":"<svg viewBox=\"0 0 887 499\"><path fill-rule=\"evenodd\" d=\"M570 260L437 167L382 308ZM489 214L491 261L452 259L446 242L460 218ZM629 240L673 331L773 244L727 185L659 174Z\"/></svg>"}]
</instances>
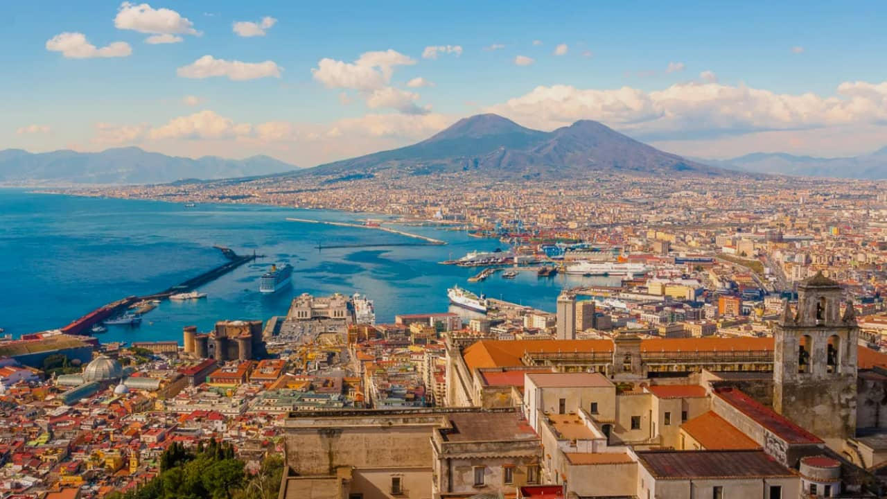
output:
<instances>
[{"instance_id":1,"label":"blue sky with scattered clouds above the mountains","mask_svg":"<svg viewBox=\"0 0 887 499\"><path fill-rule=\"evenodd\" d=\"M887 147L887 2L4 2L0 149L308 167L497 113L696 158Z\"/></svg>"}]
</instances>

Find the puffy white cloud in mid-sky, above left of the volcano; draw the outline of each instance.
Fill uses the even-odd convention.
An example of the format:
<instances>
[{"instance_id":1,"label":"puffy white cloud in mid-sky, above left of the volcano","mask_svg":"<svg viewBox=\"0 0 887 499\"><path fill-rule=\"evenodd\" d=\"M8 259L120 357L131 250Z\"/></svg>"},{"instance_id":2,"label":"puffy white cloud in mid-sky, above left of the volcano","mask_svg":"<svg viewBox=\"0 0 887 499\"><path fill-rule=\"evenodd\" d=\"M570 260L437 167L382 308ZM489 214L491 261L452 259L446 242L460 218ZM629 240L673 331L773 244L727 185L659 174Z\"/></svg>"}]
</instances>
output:
<instances>
[{"instance_id":1,"label":"puffy white cloud in mid-sky, above left of the volcano","mask_svg":"<svg viewBox=\"0 0 887 499\"><path fill-rule=\"evenodd\" d=\"M326 88L375 90L389 83L395 67L415 63L415 59L391 49L368 51L354 62L320 59L318 67L311 69L311 75Z\"/></svg>"}]
</instances>

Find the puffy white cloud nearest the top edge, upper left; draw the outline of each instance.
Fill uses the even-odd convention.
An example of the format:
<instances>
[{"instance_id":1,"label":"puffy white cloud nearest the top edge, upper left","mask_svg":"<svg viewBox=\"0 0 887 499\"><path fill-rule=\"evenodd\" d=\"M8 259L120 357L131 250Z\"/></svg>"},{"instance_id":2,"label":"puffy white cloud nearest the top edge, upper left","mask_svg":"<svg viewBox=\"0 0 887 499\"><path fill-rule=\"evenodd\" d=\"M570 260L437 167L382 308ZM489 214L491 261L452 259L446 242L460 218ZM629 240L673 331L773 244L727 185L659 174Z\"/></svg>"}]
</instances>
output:
<instances>
[{"instance_id":1,"label":"puffy white cloud nearest the top edge, upper left","mask_svg":"<svg viewBox=\"0 0 887 499\"><path fill-rule=\"evenodd\" d=\"M148 44L175 44L182 41L181 36L200 36L194 24L176 11L161 8L154 9L149 4L131 4L123 2L114 17L114 27L130 29L138 33L147 33L145 42Z\"/></svg>"}]
</instances>

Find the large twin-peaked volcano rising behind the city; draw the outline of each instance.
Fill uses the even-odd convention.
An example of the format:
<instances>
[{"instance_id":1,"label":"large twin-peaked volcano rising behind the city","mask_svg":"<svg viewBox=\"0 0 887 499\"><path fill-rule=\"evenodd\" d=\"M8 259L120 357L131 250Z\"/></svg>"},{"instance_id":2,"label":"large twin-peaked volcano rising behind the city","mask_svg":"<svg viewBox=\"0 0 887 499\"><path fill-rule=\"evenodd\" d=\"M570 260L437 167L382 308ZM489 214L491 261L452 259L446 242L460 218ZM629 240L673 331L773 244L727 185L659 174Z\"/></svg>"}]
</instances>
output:
<instances>
[{"instance_id":1,"label":"large twin-peaked volcano rising behind the city","mask_svg":"<svg viewBox=\"0 0 887 499\"><path fill-rule=\"evenodd\" d=\"M322 164L298 174L350 179L469 170L491 178L567 178L597 171L726 173L664 153L593 121L546 132L499 115L475 115L412 146Z\"/></svg>"}]
</instances>

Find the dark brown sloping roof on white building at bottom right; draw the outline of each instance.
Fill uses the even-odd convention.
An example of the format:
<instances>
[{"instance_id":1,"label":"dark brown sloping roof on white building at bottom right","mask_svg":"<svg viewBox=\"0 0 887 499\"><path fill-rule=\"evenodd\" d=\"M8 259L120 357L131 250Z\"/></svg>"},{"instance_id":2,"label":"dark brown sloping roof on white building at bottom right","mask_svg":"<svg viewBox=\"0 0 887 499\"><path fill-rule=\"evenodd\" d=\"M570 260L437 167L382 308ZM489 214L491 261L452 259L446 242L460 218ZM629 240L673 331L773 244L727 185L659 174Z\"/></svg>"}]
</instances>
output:
<instances>
[{"instance_id":1,"label":"dark brown sloping roof on white building at bottom right","mask_svg":"<svg viewBox=\"0 0 887 499\"><path fill-rule=\"evenodd\" d=\"M763 450L648 450L639 463L656 479L751 479L795 474Z\"/></svg>"}]
</instances>

